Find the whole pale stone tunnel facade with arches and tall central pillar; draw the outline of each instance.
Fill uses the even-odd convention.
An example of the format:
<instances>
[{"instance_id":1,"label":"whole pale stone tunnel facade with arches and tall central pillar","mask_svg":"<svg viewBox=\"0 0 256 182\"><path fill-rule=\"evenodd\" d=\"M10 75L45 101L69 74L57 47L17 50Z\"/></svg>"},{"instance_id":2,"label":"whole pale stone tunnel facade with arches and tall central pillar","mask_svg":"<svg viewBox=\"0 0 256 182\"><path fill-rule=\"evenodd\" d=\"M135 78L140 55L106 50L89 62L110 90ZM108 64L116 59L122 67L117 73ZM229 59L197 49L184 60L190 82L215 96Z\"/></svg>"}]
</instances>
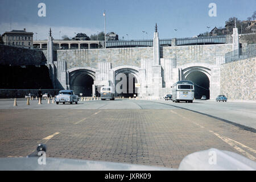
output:
<instances>
[{"instance_id":1,"label":"whole pale stone tunnel facade with arches and tall central pillar","mask_svg":"<svg viewBox=\"0 0 256 182\"><path fill-rule=\"evenodd\" d=\"M117 79L120 73L127 79L129 75L134 77L130 87L139 83L138 88L130 88L131 96L163 97L171 94L175 82L188 79L201 84L199 95L208 94L214 99L220 94L220 65L225 63L225 53L233 50L233 44L160 47L158 40L158 32L154 32L154 47L50 50L51 53L48 49L43 53L53 57L48 66L55 88L92 85L86 92L75 90L78 95L97 95L102 85L116 87L124 79ZM129 85L124 85L125 89L126 86Z\"/></svg>"}]
</instances>

